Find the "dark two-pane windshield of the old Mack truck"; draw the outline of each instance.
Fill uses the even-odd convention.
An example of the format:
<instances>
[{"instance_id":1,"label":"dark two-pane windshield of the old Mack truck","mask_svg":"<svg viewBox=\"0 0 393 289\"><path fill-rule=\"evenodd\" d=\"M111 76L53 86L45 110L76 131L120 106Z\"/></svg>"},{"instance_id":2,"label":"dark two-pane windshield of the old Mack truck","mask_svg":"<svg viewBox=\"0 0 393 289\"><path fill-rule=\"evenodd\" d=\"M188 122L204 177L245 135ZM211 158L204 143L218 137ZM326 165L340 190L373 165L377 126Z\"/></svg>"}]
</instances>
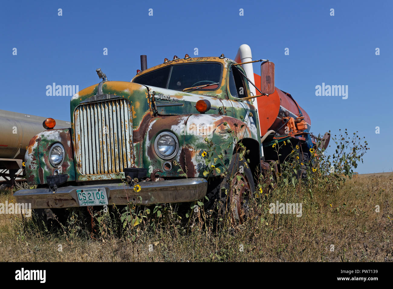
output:
<instances>
[{"instance_id":1,"label":"dark two-pane windshield of the old Mack truck","mask_svg":"<svg viewBox=\"0 0 393 289\"><path fill-rule=\"evenodd\" d=\"M222 65L220 63L186 63L154 70L137 77L134 83L173 90L211 84L196 90L216 90L220 87L221 75Z\"/></svg>"}]
</instances>

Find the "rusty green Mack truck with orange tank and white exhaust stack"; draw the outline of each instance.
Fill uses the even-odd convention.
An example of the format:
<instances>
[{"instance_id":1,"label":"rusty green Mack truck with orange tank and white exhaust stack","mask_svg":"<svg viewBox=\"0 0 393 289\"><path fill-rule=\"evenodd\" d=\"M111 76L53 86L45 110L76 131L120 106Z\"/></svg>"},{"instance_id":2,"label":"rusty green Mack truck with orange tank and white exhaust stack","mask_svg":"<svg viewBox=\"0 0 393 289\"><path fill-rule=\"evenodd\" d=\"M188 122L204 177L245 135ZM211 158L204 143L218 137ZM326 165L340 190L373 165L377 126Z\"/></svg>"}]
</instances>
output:
<instances>
[{"instance_id":1,"label":"rusty green Mack truck with orange tank and white exhaust stack","mask_svg":"<svg viewBox=\"0 0 393 289\"><path fill-rule=\"evenodd\" d=\"M253 73L256 62L261 75ZM102 81L71 99L71 127L55 129L48 118L47 130L30 140L26 179L37 188L15 192L17 202L61 212L207 196L206 205L226 200L241 221L257 172L279 160L272 144L291 140L307 160L315 143L308 114L274 87L274 64L252 61L246 44L235 61L186 54L147 68L141 55L131 81L96 72Z\"/></svg>"}]
</instances>

